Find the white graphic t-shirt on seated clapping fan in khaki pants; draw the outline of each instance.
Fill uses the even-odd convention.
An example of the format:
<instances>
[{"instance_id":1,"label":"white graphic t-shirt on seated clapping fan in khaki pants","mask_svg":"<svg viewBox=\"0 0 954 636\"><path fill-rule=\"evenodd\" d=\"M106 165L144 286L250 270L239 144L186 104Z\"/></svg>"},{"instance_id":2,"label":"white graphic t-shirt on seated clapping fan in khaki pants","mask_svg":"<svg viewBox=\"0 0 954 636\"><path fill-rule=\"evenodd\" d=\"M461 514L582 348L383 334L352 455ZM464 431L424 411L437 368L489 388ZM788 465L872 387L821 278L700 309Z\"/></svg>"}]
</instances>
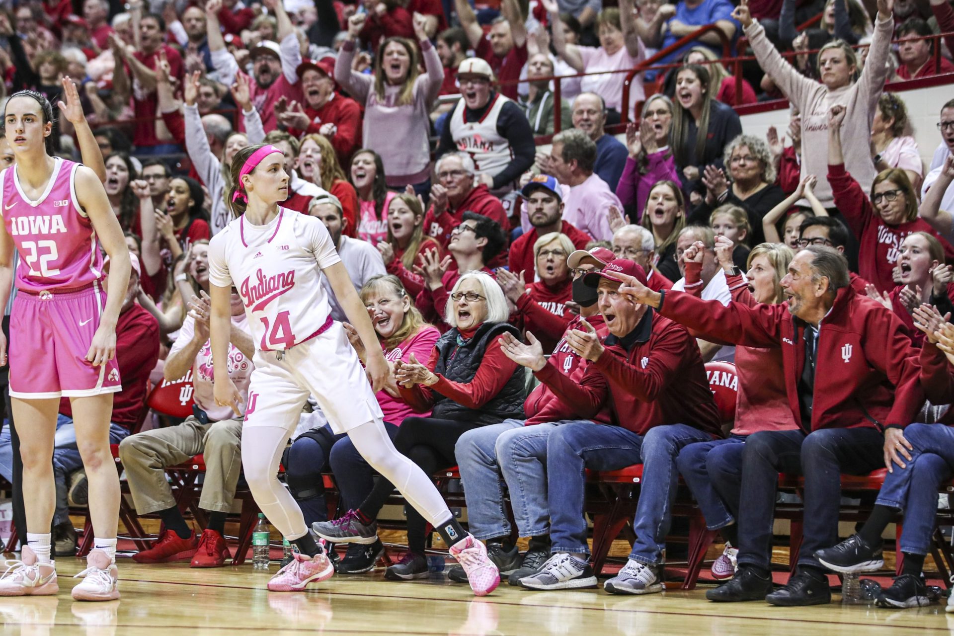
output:
<instances>
[{"instance_id":1,"label":"white graphic t-shirt on seated clapping fan in khaki pants","mask_svg":"<svg viewBox=\"0 0 954 636\"><path fill-rule=\"evenodd\" d=\"M246 334L250 333L248 329L248 318L245 314L233 316L232 324L236 329L240 329ZM185 322L182 323L182 327L179 329L179 336L176 341L173 342L173 348L170 349L169 355L174 355L176 351L184 348L189 342L192 342L195 335L196 319L187 316ZM241 405L245 406L248 403L248 384L252 379L252 371L255 369L255 366L252 364L252 360L245 358L245 355L239 351L239 347L231 342L229 343L228 366L229 378L235 382L236 388L239 389L239 393L241 394ZM212 346L209 340L206 340L202 348L198 350L196 359L192 364L192 385L195 389L193 397L196 400L197 406L209 416L209 420L232 420L235 414L232 412L231 406L216 406L216 400L212 390L212 380L214 377L212 372Z\"/></svg>"}]
</instances>

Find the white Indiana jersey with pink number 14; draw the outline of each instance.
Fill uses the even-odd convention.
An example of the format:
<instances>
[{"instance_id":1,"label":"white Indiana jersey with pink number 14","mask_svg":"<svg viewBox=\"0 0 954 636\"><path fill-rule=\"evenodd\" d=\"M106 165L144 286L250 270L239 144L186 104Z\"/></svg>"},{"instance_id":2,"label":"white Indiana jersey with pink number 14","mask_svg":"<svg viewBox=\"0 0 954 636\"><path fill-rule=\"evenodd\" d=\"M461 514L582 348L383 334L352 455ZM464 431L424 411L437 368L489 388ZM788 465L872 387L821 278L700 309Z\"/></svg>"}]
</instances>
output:
<instances>
[{"instance_id":1,"label":"white Indiana jersey with pink number 14","mask_svg":"<svg viewBox=\"0 0 954 636\"><path fill-rule=\"evenodd\" d=\"M341 260L318 217L279 208L267 225L241 215L212 237L209 280L239 290L259 351L283 351L330 319L321 268Z\"/></svg>"}]
</instances>

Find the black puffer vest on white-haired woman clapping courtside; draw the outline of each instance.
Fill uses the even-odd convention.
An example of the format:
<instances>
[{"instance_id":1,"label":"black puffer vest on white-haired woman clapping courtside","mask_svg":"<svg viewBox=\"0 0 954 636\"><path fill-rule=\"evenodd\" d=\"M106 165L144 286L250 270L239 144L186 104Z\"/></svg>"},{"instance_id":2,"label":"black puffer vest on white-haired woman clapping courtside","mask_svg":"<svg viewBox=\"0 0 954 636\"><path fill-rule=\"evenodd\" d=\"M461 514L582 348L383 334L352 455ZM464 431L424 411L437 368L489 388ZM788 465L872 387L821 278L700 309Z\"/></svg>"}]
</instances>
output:
<instances>
[{"instance_id":1,"label":"black puffer vest on white-haired woman clapping courtside","mask_svg":"<svg viewBox=\"0 0 954 636\"><path fill-rule=\"evenodd\" d=\"M504 332L509 332L515 338L520 338L520 332L513 325L507 322L491 322L481 325L473 338L458 346L457 338L461 332L457 329L451 329L434 345L439 352L434 373L439 373L447 380L455 382L473 380L484 359L487 344ZM524 400L527 398L527 381L524 367L518 366L500 393L479 409L467 408L467 406L463 406L454 400L445 398L437 391L434 391L433 395L432 418L474 421L481 426L499 424L510 418L523 420Z\"/></svg>"}]
</instances>

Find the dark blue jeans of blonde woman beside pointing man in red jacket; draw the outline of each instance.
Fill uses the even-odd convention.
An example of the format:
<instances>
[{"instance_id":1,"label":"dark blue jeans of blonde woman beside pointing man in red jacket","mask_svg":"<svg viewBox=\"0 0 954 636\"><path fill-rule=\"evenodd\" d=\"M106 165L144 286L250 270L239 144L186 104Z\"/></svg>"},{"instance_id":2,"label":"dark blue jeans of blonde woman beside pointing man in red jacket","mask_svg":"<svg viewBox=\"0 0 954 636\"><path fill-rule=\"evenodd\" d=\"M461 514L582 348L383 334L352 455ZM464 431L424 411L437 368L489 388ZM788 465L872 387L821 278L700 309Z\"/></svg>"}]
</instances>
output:
<instances>
[{"instance_id":1,"label":"dark blue jeans of blonde woman beside pointing man in red jacket","mask_svg":"<svg viewBox=\"0 0 954 636\"><path fill-rule=\"evenodd\" d=\"M699 441L683 448L675 461L710 530L736 521L744 443L745 436L739 435Z\"/></svg>"}]
</instances>

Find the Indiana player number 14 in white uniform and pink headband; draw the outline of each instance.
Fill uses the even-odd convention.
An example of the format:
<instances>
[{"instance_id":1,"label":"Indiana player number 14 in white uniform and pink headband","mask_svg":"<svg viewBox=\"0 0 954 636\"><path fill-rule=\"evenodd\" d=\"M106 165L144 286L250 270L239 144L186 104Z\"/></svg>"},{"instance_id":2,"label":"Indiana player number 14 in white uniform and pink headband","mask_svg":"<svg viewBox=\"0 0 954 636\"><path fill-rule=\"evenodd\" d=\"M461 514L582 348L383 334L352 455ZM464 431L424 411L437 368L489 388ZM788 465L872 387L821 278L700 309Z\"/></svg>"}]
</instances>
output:
<instances>
[{"instance_id":1,"label":"Indiana player number 14 in white uniform and pink headband","mask_svg":"<svg viewBox=\"0 0 954 636\"><path fill-rule=\"evenodd\" d=\"M281 453L312 395L332 430L347 433L364 459L441 533L467 570L474 593L488 594L500 574L487 559L487 548L457 523L430 477L394 448L384 430L374 394L389 370L371 319L321 220L279 206L288 194L283 161L275 146L249 146L236 154L230 195L238 218L209 245L215 398L239 413L239 391L221 363L228 355L228 339L221 335L228 333L223 330L231 320L234 285L256 343L242 426L242 468L255 502L297 547L295 559L272 577L268 589L301 590L334 573L301 508L277 478ZM366 372L342 324L329 316L322 275L364 342Z\"/></svg>"}]
</instances>

